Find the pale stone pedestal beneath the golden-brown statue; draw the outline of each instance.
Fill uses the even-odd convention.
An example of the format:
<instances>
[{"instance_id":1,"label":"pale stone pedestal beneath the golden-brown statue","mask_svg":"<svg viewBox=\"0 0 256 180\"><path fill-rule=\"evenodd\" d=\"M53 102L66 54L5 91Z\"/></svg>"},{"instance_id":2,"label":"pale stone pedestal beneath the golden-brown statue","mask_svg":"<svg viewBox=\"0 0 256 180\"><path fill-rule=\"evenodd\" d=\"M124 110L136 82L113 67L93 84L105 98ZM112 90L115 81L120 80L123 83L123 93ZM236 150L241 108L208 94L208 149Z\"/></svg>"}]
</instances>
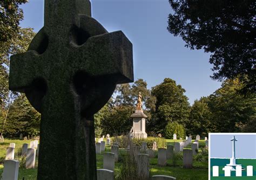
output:
<instances>
[{"instance_id":1,"label":"pale stone pedestal beneath the golden-brown statue","mask_svg":"<svg viewBox=\"0 0 256 180\"><path fill-rule=\"evenodd\" d=\"M147 115L143 113L143 110L136 110L131 115L133 119L133 137L147 138L146 134L146 118Z\"/></svg>"}]
</instances>

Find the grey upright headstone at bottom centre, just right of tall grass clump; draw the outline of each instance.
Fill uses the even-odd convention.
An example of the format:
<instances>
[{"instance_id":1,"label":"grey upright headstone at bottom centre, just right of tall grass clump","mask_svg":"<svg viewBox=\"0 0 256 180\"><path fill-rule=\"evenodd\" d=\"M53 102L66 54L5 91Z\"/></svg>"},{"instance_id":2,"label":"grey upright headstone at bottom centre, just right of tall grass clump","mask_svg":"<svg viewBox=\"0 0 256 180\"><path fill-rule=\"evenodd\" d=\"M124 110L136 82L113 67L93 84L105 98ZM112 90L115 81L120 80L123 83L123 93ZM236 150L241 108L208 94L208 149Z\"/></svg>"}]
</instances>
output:
<instances>
[{"instance_id":1,"label":"grey upright headstone at bottom centre, just right of tall grass clump","mask_svg":"<svg viewBox=\"0 0 256 180\"><path fill-rule=\"evenodd\" d=\"M138 178L139 179L149 179L150 177L150 167L149 167L149 155L138 154Z\"/></svg>"}]
</instances>

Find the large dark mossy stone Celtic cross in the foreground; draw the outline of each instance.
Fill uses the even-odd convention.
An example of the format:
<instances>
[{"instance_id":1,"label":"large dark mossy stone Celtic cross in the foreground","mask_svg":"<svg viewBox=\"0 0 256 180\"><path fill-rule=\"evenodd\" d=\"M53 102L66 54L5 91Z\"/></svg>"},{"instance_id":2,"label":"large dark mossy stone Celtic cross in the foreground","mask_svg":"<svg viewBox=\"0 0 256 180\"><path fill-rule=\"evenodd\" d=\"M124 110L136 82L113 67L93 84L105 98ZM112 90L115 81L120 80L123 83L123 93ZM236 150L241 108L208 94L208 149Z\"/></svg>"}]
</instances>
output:
<instances>
[{"instance_id":1,"label":"large dark mossy stone Celtic cross in the foreground","mask_svg":"<svg viewBox=\"0 0 256 180\"><path fill-rule=\"evenodd\" d=\"M93 114L133 81L132 44L91 18L88 0L44 2L44 27L11 57L9 88L41 113L37 178L96 180Z\"/></svg>"}]
</instances>

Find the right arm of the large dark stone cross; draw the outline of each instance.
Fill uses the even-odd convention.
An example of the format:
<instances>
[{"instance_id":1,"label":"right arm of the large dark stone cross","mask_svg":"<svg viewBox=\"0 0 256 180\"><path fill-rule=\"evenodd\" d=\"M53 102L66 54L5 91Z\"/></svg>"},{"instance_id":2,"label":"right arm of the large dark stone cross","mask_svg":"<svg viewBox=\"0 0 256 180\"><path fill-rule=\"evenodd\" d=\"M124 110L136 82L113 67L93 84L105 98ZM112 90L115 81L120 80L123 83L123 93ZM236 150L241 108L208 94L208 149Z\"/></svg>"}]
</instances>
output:
<instances>
[{"instance_id":1,"label":"right arm of the large dark stone cross","mask_svg":"<svg viewBox=\"0 0 256 180\"><path fill-rule=\"evenodd\" d=\"M79 46L77 64L92 77L108 75L115 84L133 81L132 43L122 31L90 37Z\"/></svg>"}]
</instances>

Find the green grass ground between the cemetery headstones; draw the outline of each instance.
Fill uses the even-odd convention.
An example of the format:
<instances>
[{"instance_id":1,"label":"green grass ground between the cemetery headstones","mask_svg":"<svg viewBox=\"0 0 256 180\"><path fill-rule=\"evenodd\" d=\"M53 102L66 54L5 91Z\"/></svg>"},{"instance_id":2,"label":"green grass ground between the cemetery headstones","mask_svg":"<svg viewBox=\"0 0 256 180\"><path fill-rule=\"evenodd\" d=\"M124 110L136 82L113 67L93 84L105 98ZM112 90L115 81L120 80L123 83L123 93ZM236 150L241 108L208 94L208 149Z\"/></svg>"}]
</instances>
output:
<instances>
[{"instance_id":1,"label":"green grass ground between the cemetery headstones","mask_svg":"<svg viewBox=\"0 0 256 180\"><path fill-rule=\"evenodd\" d=\"M0 143L0 177L3 173L3 161L6 154L6 148L9 147L10 143L16 143L15 148L15 159L20 161L19 167L19 174L18 179L22 179L24 177L25 180L27 179L36 179L37 176L37 157L36 157L36 168L35 169L26 169L25 168L25 158L22 159L21 156L17 158L18 151L21 151L23 143L30 143L33 140L16 140L16 139L5 139L4 143ZM98 140L97 140L98 141ZM96 142L97 142L96 141ZM174 144L174 141L180 142L182 140L166 140L167 144ZM199 148L205 147L205 141L199 141ZM184 149L191 149L191 145L188 145ZM102 154L97 154L97 169L103 168L103 154L110 152L111 147L106 145L105 152ZM156 151L157 152L157 151ZM125 154L125 149L119 148L119 154ZM157 153L156 153L157 154ZM207 156L207 157L206 157ZM119 156L120 157L120 156ZM157 156L155 158L150 158L150 176L153 175L169 175L176 177L177 180L200 180L200 179L208 179L208 161L201 161L201 159L208 159L208 154L205 157L199 157L199 160L194 160L193 158L193 168L192 169L185 169L183 168L183 160L182 160L182 152L177 154L177 161L175 167L173 166L172 160L167 160L167 165L165 167L160 167L157 164ZM118 179L120 175L120 161L116 162L114 165L114 175ZM115 178L115 179L116 179Z\"/></svg>"}]
</instances>

